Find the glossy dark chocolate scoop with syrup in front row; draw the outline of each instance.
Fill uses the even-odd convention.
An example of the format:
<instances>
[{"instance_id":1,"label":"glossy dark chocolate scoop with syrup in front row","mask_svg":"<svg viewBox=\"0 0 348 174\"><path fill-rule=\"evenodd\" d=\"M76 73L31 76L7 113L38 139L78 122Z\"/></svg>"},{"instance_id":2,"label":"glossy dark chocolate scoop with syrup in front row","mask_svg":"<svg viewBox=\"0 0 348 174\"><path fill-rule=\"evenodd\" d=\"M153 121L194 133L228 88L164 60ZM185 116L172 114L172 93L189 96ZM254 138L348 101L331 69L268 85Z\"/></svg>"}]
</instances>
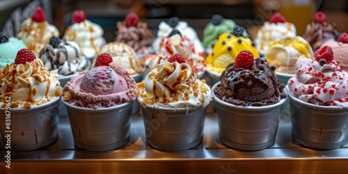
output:
<instances>
[{"instance_id":1,"label":"glossy dark chocolate scoop with syrup in front row","mask_svg":"<svg viewBox=\"0 0 348 174\"><path fill-rule=\"evenodd\" d=\"M236 68L231 63L221 73L221 87L214 91L221 100L242 106L266 106L286 97L284 84L279 85L276 68L266 58L255 58L251 68ZM219 88L220 87L220 88Z\"/></svg>"}]
</instances>

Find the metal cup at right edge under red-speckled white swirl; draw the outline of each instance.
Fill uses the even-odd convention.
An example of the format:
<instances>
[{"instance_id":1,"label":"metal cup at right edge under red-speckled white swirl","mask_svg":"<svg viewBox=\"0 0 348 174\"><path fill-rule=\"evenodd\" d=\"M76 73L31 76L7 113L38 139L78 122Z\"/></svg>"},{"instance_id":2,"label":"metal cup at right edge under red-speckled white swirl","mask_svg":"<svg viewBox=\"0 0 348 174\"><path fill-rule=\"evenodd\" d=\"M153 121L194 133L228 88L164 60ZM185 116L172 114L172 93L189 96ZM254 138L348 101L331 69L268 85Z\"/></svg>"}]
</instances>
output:
<instances>
[{"instance_id":1,"label":"metal cup at right edge under red-speckled white swirl","mask_svg":"<svg viewBox=\"0 0 348 174\"><path fill-rule=\"evenodd\" d=\"M318 106L291 95L292 138L308 148L329 150L348 141L348 108Z\"/></svg>"}]
</instances>

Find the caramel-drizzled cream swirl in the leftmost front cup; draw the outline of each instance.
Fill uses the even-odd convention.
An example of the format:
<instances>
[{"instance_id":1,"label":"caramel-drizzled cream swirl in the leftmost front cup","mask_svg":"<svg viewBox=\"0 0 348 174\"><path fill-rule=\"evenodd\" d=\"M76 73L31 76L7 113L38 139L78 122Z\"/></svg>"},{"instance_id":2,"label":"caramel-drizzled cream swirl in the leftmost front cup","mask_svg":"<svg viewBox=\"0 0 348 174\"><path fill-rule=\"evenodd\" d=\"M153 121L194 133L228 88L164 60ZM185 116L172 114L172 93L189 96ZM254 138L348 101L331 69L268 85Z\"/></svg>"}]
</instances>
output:
<instances>
[{"instance_id":1,"label":"caramel-drizzled cream swirl in the leftmost front cup","mask_svg":"<svg viewBox=\"0 0 348 174\"><path fill-rule=\"evenodd\" d=\"M59 81L39 58L24 64L9 65L0 72L0 105L11 98L11 108L30 108L61 95Z\"/></svg>"}]
</instances>

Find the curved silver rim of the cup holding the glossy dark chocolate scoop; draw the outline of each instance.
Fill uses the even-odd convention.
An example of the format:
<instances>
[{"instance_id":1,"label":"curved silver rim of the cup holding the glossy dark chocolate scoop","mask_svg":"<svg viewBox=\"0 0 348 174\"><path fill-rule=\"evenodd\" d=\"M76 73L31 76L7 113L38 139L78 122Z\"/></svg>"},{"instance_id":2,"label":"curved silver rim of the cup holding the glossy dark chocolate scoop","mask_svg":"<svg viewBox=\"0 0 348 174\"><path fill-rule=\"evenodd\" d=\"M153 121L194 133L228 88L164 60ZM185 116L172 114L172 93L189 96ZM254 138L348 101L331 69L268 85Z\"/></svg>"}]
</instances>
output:
<instances>
[{"instance_id":1,"label":"curved silver rim of the cup holding the glossy dark chocolate scoop","mask_svg":"<svg viewBox=\"0 0 348 174\"><path fill-rule=\"evenodd\" d=\"M220 100L219 97L216 97L216 95L214 94L214 89L216 88L216 86L218 86L219 84L221 84L221 81L217 82L216 84L214 84L214 86L212 87L212 96L213 96L213 100L221 105L224 106L229 106L229 107L233 107L235 109L240 109L240 110L254 110L254 111L262 111L262 110L268 110L268 109L274 109L278 106L281 106L285 103L285 101L287 100L288 97L281 99L278 103L276 104L270 104L267 106L237 106L235 104L230 104L227 102L223 102L223 100ZM287 93L287 91L285 91L285 93ZM289 94L287 94L289 95Z\"/></svg>"}]
</instances>

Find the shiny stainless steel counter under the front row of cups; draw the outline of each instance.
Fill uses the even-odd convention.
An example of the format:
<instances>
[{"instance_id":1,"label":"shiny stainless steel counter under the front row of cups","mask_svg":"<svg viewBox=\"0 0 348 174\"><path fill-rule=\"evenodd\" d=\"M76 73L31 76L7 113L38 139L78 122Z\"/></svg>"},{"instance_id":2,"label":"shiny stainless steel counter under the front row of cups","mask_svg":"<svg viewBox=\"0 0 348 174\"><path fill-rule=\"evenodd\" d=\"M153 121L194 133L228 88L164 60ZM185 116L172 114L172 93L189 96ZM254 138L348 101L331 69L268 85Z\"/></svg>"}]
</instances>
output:
<instances>
[{"instance_id":1,"label":"shiny stainless steel counter under the front row of cups","mask_svg":"<svg viewBox=\"0 0 348 174\"><path fill-rule=\"evenodd\" d=\"M68 116L59 120L58 141L40 150L12 151L11 168L3 173L348 173L348 145L313 150L291 137L289 105L283 108L276 143L258 151L226 147L219 141L213 104L207 108L203 143L181 152L155 150L145 142L141 113L132 116L127 145L108 152L88 152L74 146ZM5 155L1 143L2 157Z\"/></svg>"}]
</instances>

